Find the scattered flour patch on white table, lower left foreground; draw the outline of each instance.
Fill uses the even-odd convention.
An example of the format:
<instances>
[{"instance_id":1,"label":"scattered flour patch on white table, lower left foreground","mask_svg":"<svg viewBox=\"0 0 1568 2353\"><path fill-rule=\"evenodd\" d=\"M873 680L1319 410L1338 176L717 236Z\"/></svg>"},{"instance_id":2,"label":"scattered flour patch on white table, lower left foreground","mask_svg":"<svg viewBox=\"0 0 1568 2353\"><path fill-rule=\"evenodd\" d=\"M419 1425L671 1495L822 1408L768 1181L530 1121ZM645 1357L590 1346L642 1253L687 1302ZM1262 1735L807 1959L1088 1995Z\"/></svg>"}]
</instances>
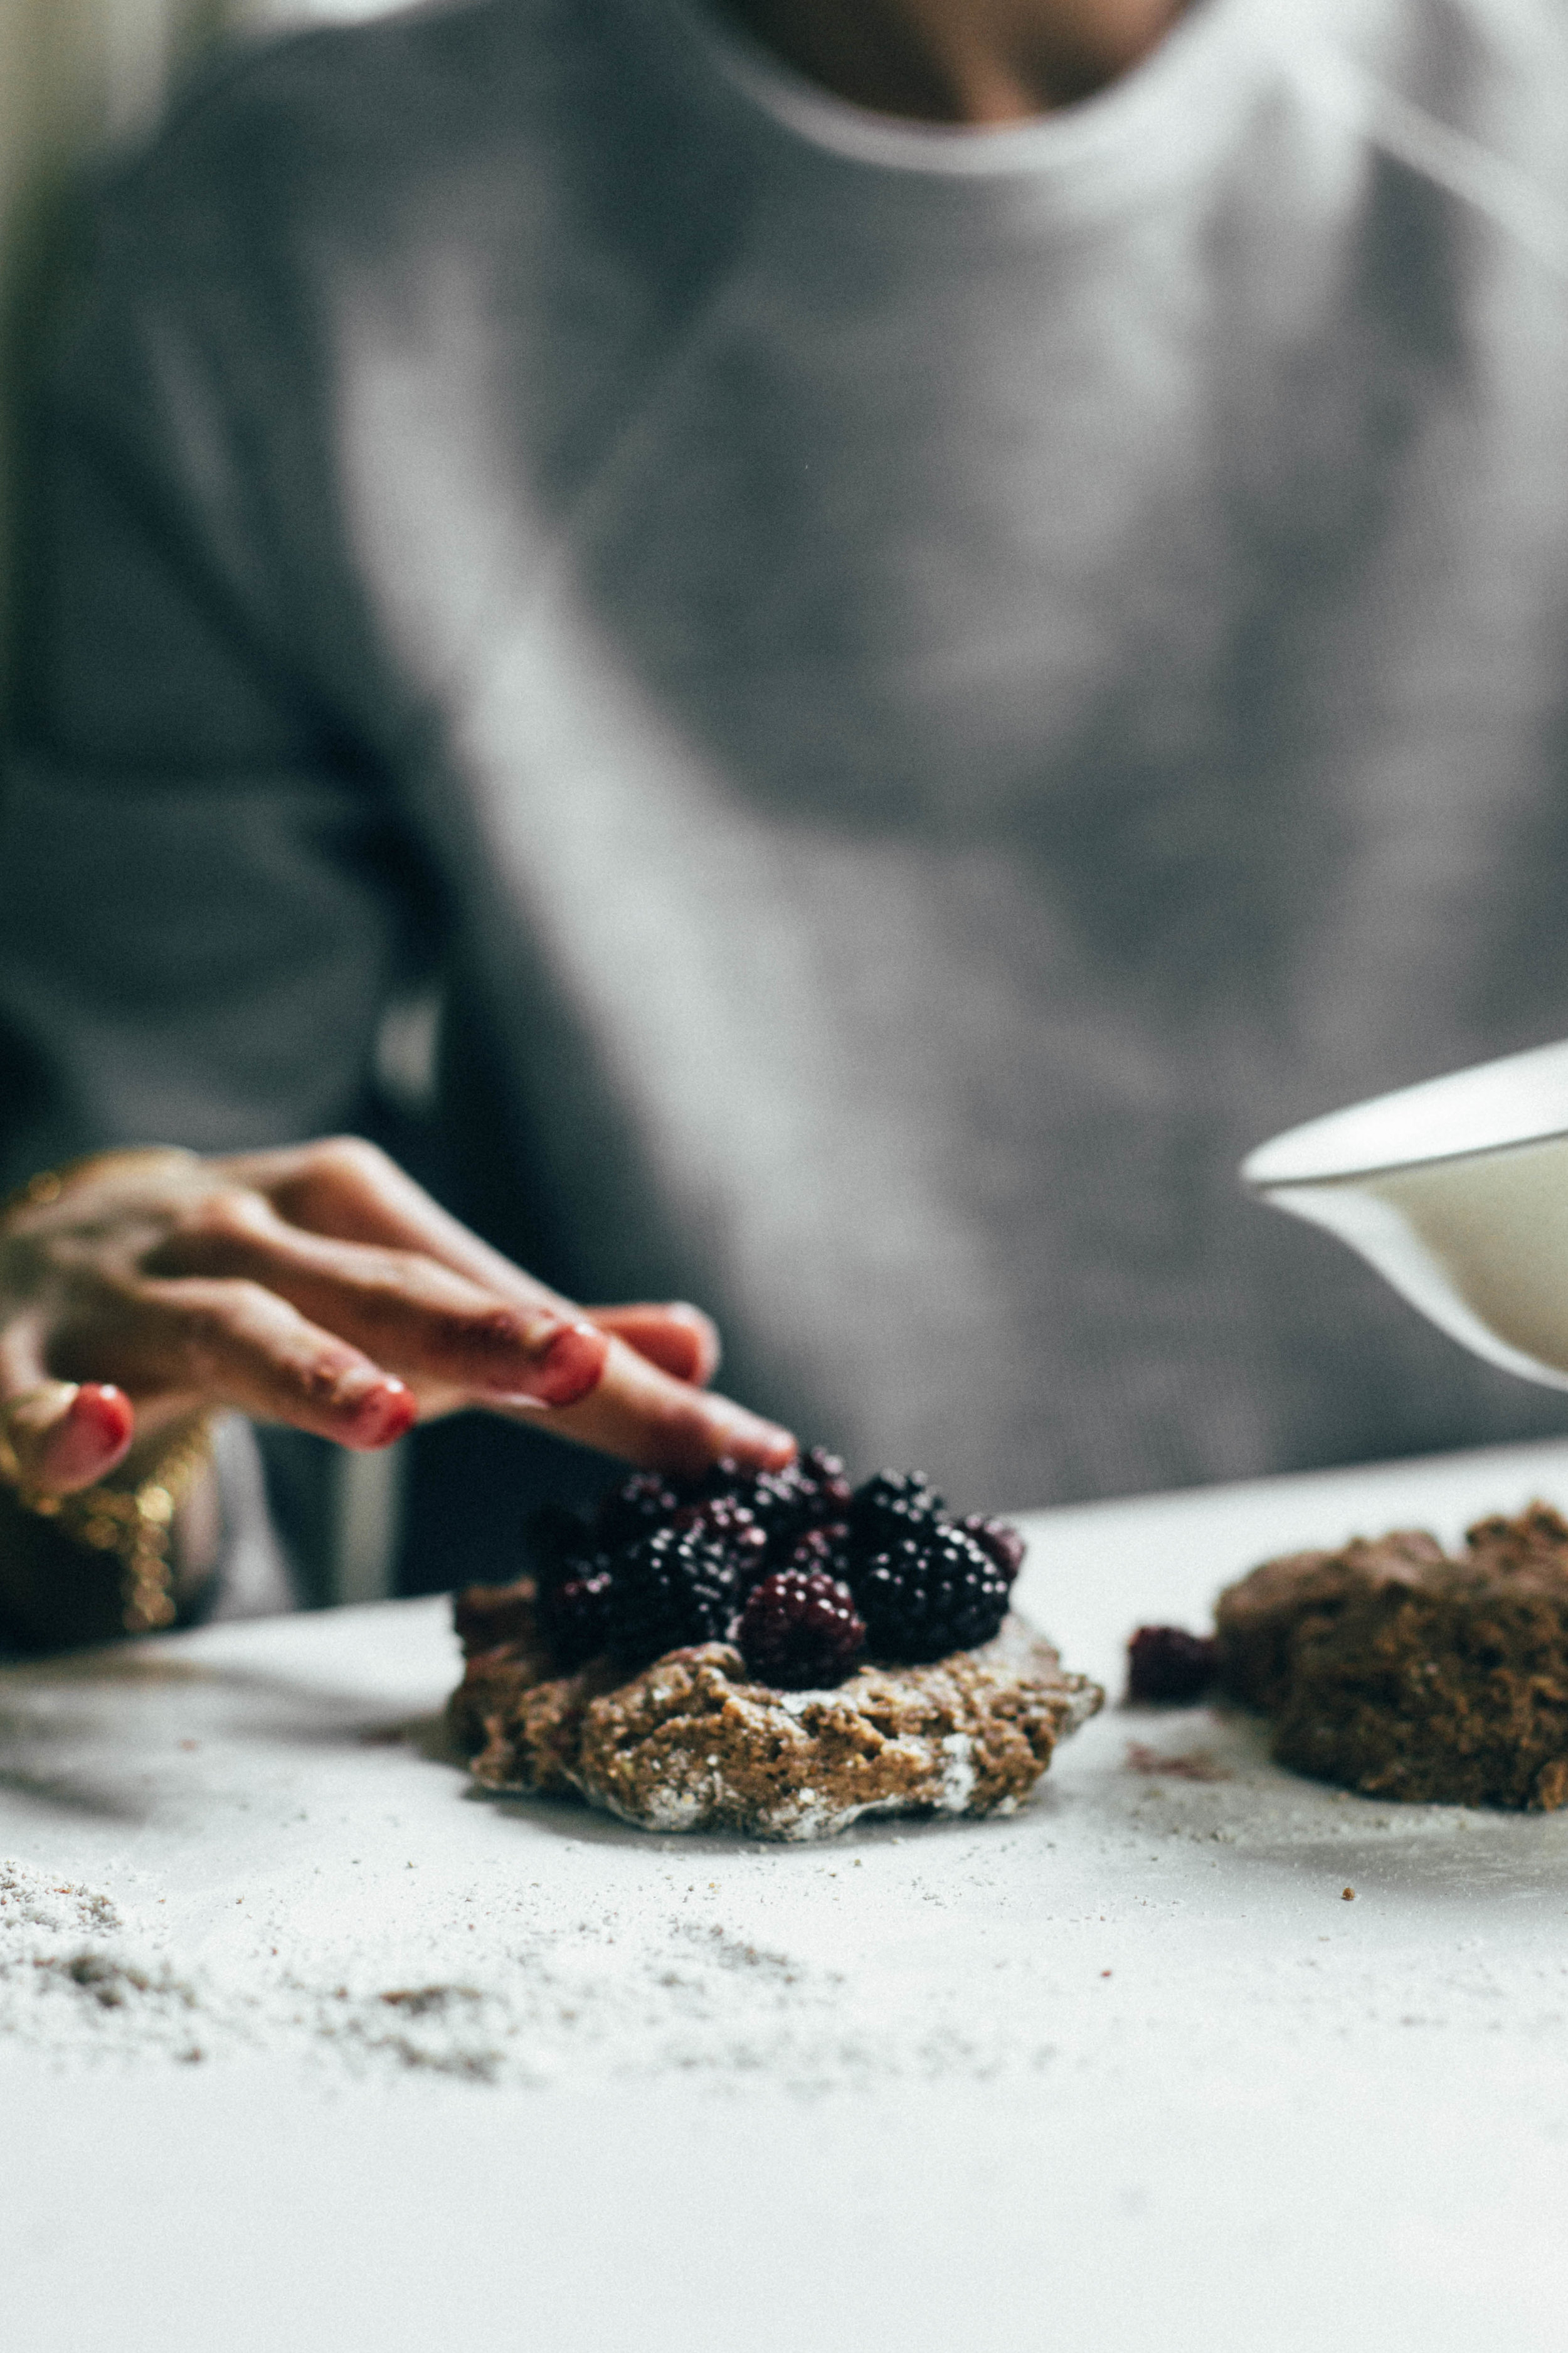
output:
<instances>
[{"instance_id":1,"label":"scattered flour patch on white table, lower left foreground","mask_svg":"<svg viewBox=\"0 0 1568 2353\"><path fill-rule=\"evenodd\" d=\"M193 1939L200 1958L176 1960L150 1889L113 1904L0 1861L0 2052L61 2066L268 2057L315 2075L538 2087L679 2075L825 2089L1001 2064L973 2019L910 2017L820 1955L691 1918L668 1885L632 1915L454 1918L428 1939L428 1974L388 1969L369 1911L360 1925L315 1939L320 1967L299 1937L268 1967L212 1932Z\"/></svg>"}]
</instances>

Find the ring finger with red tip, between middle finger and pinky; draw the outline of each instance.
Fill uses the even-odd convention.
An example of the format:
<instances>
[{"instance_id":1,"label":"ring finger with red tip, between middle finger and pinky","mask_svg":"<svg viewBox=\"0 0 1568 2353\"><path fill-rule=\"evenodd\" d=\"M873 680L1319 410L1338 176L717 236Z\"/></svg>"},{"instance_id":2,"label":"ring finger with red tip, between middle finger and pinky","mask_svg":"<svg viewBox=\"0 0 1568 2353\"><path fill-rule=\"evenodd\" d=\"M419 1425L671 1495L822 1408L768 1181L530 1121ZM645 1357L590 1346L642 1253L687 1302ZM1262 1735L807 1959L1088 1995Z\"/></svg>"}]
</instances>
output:
<instances>
[{"instance_id":1,"label":"ring finger with red tip, between middle finger and pinky","mask_svg":"<svg viewBox=\"0 0 1568 2353\"><path fill-rule=\"evenodd\" d=\"M61 1372L75 1353L113 1362L132 1398L228 1405L346 1447L386 1447L418 1412L404 1381L259 1282L139 1282L113 1327L59 1334Z\"/></svg>"}]
</instances>

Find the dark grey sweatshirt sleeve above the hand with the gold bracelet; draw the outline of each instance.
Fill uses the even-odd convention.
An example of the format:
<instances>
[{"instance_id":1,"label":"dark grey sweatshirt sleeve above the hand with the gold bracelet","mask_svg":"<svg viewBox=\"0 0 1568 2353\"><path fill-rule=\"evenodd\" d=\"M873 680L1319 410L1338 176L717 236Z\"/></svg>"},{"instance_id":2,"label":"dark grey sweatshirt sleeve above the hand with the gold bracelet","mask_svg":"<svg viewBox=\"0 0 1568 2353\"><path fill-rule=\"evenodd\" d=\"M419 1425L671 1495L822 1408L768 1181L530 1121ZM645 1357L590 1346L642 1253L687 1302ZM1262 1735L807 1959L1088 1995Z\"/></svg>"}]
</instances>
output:
<instances>
[{"instance_id":1,"label":"dark grey sweatshirt sleeve above the hand with the gold bracelet","mask_svg":"<svg viewBox=\"0 0 1568 2353\"><path fill-rule=\"evenodd\" d=\"M0 798L12 1181L355 1122L381 1009L433 953L395 753L324 685L357 616L322 560L303 304L263 256L242 282L200 188L150 179L106 207L33 471Z\"/></svg>"}]
</instances>

